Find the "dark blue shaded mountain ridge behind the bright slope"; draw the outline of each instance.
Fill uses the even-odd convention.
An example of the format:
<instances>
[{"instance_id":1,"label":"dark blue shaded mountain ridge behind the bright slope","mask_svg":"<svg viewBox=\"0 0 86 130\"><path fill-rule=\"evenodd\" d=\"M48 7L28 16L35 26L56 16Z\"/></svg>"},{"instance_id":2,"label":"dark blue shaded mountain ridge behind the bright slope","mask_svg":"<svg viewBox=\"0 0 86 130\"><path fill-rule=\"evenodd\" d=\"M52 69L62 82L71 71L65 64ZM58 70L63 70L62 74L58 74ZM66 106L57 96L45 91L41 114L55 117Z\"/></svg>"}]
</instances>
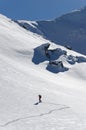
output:
<instances>
[{"instance_id":1,"label":"dark blue shaded mountain ridge behind the bright slope","mask_svg":"<svg viewBox=\"0 0 86 130\"><path fill-rule=\"evenodd\" d=\"M42 34L48 40L86 54L86 7L62 15L52 21L27 22L20 25L32 32Z\"/></svg>"}]
</instances>

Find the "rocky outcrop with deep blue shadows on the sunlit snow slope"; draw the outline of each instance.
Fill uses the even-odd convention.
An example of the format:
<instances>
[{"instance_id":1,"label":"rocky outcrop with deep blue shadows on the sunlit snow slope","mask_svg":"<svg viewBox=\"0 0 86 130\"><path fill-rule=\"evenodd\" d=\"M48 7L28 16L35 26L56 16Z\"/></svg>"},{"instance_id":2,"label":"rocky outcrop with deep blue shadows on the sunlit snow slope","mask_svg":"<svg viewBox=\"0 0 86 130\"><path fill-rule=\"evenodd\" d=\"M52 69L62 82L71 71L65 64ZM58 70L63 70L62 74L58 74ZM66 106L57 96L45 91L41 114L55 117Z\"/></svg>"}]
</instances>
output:
<instances>
[{"instance_id":1,"label":"rocky outcrop with deep blue shadows on the sunlit snow slope","mask_svg":"<svg viewBox=\"0 0 86 130\"><path fill-rule=\"evenodd\" d=\"M67 55L67 51L62 50L60 48L49 49L50 44L46 43L34 49L34 56L32 61L35 64L39 64L44 61L48 61L46 69L53 72L65 72L68 71L69 68L64 66L64 62L67 64L75 64L86 62L86 58L84 56L73 56Z\"/></svg>"}]
</instances>

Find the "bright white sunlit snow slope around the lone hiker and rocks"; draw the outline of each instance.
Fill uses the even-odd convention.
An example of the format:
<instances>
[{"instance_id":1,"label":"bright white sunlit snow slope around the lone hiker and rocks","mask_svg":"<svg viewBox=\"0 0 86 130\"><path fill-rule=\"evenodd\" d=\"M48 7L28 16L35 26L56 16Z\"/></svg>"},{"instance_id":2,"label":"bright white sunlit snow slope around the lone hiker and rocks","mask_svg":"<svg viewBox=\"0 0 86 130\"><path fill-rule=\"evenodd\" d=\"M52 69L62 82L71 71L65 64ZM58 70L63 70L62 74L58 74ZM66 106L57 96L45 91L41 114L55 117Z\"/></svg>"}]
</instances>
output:
<instances>
[{"instance_id":1,"label":"bright white sunlit snow slope around the lone hiker and rocks","mask_svg":"<svg viewBox=\"0 0 86 130\"><path fill-rule=\"evenodd\" d=\"M0 130L86 130L85 58L0 15Z\"/></svg>"}]
</instances>

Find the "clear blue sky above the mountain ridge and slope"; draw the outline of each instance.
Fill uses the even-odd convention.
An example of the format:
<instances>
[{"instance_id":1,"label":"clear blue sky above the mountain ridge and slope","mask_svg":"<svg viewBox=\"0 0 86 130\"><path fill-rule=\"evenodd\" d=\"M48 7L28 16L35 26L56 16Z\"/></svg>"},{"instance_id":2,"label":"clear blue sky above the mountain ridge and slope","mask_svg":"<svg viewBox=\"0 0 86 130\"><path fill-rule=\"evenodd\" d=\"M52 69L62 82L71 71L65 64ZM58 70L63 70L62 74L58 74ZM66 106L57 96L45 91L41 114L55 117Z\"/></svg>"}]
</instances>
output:
<instances>
[{"instance_id":1,"label":"clear blue sky above the mountain ridge and slope","mask_svg":"<svg viewBox=\"0 0 86 130\"><path fill-rule=\"evenodd\" d=\"M15 20L51 20L83 6L86 0L0 0L0 13Z\"/></svg>"}]
</instances>

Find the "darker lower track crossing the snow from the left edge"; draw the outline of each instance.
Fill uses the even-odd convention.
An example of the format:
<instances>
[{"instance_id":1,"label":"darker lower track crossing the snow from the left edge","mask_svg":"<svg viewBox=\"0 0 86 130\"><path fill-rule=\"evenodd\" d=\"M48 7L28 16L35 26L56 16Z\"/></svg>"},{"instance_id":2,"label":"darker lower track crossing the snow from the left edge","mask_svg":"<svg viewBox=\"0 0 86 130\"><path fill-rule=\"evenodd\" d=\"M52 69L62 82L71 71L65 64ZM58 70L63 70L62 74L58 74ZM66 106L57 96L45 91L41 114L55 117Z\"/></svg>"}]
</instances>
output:
<instances>
[{"instance_id":1,"label":"darker lower track crossing the snow from the left edge","mask_svg":"<svg viewBox=\"0 0 86 130\"><path fill-rule=\"evenodd\" d=\"M25 119L30 119L30 118L35 118L35 117L42 117L42 116L46 116L46 115L49 115L51 114L52 112L55 112L55 111L59 111L59 110L65 110L65 109L68 109L70 107L61 107L59 109L53 109L53 110L50 110L49 112L46 112L46 113L41 113L39 115L33 115L33 116L27 116L27 117L23 117L23 118L17 118L17 119L14 119L14 120L11 120L11 121L8 121L7 123L3 124L3 125L0 125L0 127L6 127L12 123L15 123L15 122L18 122L18 121L21 121L21 120L25 120Z\"/></svg>"}]
</instances>

